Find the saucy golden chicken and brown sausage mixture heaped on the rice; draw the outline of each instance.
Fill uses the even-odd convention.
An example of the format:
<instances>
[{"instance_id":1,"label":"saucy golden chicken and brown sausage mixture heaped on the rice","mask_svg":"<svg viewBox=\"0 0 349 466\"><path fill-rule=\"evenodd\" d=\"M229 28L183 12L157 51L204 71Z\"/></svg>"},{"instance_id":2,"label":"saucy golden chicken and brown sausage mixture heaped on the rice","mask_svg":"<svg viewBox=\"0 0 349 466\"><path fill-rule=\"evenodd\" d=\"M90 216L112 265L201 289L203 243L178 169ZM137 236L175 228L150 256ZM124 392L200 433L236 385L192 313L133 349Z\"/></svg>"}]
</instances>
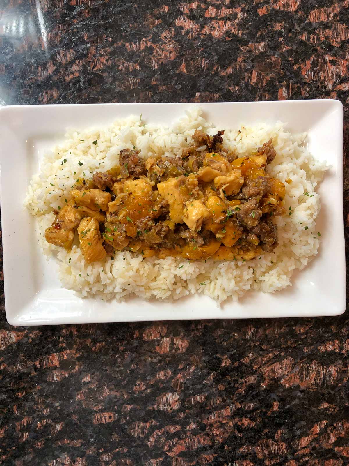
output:
<instances>
[{"instance_id":1,"label":"saucy golden chicken and brown sausage mixture heaped on the rice","mask_svg":"<svg viewBox=\"0 0 349 466\"><path fill-rule=\"evenodd\" d=\"M250 260L277 246L273 217L285 213L285 185L268 176L271 144L237 157L224 131L195 130L181 156L143 160L135 148L119 165L78 178L47 228L47 242L70 250L78 233L87 263L127 249L143 257Z\"/></svg>"}]
</instances>

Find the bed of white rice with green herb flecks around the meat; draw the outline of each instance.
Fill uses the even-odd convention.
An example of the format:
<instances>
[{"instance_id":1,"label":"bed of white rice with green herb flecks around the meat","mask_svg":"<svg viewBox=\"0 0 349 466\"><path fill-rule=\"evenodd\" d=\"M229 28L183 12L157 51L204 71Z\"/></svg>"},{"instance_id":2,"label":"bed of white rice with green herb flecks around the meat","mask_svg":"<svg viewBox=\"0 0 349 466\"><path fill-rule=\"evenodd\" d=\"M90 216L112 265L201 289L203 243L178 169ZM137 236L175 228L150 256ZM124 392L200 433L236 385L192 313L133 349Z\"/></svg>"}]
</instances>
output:
<instances>
[{"instance_id":1,"label":"bed of white rice with green herb flecks around the meat","mask_svg":"<svg viewBox=\"0 0 349 466\"><path fill-rule=\"evenodd\" d=\"M204 293L218 303L229 296L238 301L250 288L274 293L291 286L293 271L305 267L317 254L320 238L315 219L320 211L320 198L315 187L327 167L304 148L306 134L286 132L281 122L275 126L243 124L235 129L216 128L201 116L199 108L193 108L171 127L144 123L139 116L130 116L103 128L68 131L64 143L45 156L41 172L31 180L25 199L29 212L37 216L40 246L47 258L54 255L59 262L62 286L80 296L99 295L103 299L122 300L135 294L144 299L173 301ZM106 171L118 163L121 149L133 146L141 150L144 158L181 155L182 148L192 143L195 129L209 134L224 129L224 145L238 154L249 154L273 138L277 155L268 171L282 182L286 178L292 180L285 183L289 215L275 219L279 246L273 253L248 262L189 262L171 257L142 260L140 254L122 251L114 255L114 260L88 265L77 244L67 253L45 241L43 233L54 220L53 209L64 205L77 178Z\"/></svg>"}]
</instances>

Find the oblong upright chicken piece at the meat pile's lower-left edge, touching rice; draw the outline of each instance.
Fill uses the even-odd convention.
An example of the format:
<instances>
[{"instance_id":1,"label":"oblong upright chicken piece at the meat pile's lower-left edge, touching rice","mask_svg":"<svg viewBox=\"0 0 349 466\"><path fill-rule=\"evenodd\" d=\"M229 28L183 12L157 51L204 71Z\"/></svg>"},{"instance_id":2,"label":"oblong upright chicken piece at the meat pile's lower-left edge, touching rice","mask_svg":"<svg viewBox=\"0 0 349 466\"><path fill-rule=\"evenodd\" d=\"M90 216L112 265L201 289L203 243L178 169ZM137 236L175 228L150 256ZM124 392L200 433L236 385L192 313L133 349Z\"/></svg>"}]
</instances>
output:
<instances>
[{"instance_id":1,"label":"oblong upright chicken piece at the meat pile's lower-left edge, touching rice","mask_svg":"<svg viewBox=\"0 0 349 466\"><path fill-rule=\"evenodd\" d=\"M85 262L91 264L96 260L102 260L107 256L103 247L98 221L92 217L82 219L78 226L80 249Z\"/></svg>"}]
</instances>

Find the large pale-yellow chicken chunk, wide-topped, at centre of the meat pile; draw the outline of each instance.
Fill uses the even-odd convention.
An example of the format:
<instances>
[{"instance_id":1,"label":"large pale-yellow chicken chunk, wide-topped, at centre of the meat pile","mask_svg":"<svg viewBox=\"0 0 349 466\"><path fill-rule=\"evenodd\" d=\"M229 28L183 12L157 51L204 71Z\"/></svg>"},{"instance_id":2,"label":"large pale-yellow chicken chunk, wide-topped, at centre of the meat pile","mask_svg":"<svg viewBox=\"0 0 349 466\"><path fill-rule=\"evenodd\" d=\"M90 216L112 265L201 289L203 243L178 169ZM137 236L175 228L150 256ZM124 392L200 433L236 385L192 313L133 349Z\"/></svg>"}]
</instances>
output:
<instances>
[{"instance_id":1,"label":"large pale-yellow chicken chunk, wide-topped, at centre of the meat pile","mask_svg":"<svg viewBox=\"0 0 349 466\"><path fill-rule=\"evenodd\" d=\"M170 219L175 223L183 223L184 203L189 199L186 177L168 178L158 183L157 188L161 197L168 201Z\"/></svg>"}]
</instances>

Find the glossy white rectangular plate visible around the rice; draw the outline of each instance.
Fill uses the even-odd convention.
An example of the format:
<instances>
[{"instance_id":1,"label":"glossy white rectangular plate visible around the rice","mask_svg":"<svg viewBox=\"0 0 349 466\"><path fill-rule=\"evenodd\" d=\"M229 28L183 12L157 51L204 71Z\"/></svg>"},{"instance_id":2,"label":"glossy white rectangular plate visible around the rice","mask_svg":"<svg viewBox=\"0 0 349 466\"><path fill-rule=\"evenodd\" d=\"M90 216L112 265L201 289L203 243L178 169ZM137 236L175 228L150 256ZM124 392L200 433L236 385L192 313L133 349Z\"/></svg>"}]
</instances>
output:
<instances>
[{"instance_id":1,"label":"glossy white rectangular plate visible around the rice","mask_svg":"<svg viewBox=\"0 0 349 466\"><path fill-rule=\"evenodd\" d=\"M60 287L55 260L46 260L35 234L35 219L23 208L27 185L39 170L45 150L64 136L66 128L84 129L140 115L146 122L171 123L193 104L134 103L86 105L24 105L0 109L1 220L4 253L5 305L12 325L129 322L166 319L305 317L339 315L345 310L345 250L342 206L343 108L335 100L287 102L201 103L208 121L222 129L239 123L281 120L287 130L309 133L309 150L332 165L319 192L317 220L322 233L319 253L292 277L293 286L275 294L249 291L240 302L217 308L204 295L175 303L104 302L81 299Z\"/></svg>"}]
</instances>

